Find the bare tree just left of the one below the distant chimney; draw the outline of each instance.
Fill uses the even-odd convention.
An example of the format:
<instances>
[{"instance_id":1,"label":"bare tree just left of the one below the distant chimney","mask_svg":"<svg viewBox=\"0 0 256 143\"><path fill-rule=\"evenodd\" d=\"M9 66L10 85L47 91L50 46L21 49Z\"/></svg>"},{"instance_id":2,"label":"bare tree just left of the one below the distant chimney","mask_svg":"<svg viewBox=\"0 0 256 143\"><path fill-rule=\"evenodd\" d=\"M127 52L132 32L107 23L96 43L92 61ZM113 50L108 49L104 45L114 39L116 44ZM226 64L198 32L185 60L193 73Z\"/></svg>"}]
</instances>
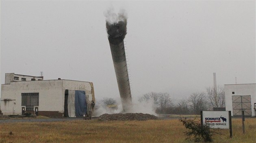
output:
<instances>
[{"instance_id":1,"label":"bare tree just left of the one below the distant chimney","mask_svg":"<svg viewBox=\"0 0 256 143\"><path fill-rule=\"evenodd\" d=\"M192 93L189 96L188 103L193 114L200 114L200 111L206 109L205 93Z\"/></svg>"}]
</instances>

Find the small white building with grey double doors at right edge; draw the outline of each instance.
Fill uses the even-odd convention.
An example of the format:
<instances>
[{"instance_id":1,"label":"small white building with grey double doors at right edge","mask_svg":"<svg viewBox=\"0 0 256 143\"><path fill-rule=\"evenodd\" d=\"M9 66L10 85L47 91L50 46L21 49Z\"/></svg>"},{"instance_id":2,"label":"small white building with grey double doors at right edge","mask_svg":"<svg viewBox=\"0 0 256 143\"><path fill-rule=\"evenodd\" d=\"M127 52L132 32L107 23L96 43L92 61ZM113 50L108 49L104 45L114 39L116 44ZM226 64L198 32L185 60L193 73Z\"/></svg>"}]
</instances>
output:
<instances>
[{"instance_id":1,"label":"small white building with grey double doors at right edge","mask_svg":"<svg viewBox=\"0 0 256 143\"><path fill-rule=\"evenodd\" d=\"M256 84L225 84L226 111L231 116L256 116Z\"/></svg>"}]
</instances>

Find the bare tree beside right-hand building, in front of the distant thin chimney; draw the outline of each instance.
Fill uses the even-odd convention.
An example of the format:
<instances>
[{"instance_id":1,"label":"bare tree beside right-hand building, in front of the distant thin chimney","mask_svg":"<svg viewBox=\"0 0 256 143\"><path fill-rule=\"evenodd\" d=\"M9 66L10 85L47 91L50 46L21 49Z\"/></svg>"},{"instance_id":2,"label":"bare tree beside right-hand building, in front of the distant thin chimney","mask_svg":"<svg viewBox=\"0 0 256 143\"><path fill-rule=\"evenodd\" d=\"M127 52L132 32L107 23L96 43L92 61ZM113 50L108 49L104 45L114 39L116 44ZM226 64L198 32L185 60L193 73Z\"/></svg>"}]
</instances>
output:
<instances>
[{"instance_id":1,"label":"bare tree beside right-hand building, in front of the distant thin chimney","mask_svg":"<svg viewBox=\"0 0 256 143\"><path fill-rule=\"evenodd\" d=\"M223 86L206 88L207 97L213 107L225 107L225 91Z\"/></svg>"}]
</instances>

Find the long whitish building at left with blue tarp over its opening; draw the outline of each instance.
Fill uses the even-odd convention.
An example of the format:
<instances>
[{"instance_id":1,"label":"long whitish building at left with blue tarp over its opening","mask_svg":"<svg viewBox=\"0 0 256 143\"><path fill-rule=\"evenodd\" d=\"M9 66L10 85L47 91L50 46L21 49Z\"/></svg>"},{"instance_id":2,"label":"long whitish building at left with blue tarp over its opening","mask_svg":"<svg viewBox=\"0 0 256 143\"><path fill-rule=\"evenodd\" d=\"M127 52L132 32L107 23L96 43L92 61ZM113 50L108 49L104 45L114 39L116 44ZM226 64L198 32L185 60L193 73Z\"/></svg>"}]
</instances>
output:
<instances>
[{"instance_id":1,"label":"long whitish building at left with blue tarp over its opening","mask_svg":"<svg viewBox=\"0 0 256 143\"><path fill-rule=\"evenodd\" d=\"M92 82L43 80L43 77L5 74L1 85L4 115L30 112L49 117L78 117L91 113L95 104Z\"/></svg>"}]
</instances>

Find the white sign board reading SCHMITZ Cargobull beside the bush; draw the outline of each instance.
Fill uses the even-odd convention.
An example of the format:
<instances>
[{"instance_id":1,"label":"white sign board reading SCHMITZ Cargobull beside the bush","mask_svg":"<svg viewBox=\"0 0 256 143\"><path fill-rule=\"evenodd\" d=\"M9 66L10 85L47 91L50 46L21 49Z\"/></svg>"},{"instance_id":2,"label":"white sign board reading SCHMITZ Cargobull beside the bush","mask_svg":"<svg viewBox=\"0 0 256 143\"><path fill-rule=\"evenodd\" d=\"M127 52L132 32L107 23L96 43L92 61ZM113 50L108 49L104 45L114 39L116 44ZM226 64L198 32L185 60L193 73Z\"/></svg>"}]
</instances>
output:
<instances>
[{"instance_id":1,"label":"white sign board reading SCHMITZ Cargobull beside the bush","mask_svg":"<svg viewBox=\"0 0 256 143\"><path fill-rule=\"evenodd\" d=\"M229 129L228 111L202 111L202 120L211 128Z\"/></svg>"}]
</instances>

